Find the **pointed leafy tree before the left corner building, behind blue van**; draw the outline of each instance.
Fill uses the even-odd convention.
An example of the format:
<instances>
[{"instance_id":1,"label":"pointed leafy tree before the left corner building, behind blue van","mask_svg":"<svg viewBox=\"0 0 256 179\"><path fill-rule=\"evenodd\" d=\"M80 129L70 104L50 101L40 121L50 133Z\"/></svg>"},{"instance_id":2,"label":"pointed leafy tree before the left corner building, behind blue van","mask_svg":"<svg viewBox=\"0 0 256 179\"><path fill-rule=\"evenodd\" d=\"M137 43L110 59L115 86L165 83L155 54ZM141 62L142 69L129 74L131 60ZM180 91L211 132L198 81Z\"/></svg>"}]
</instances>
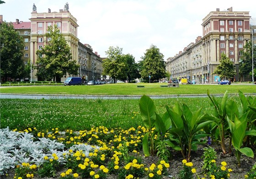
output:
<instances>
[{"instance_id":1,"label":"pointed leafy tree before the left corner building, behind blue van","mask_svg":"<svg viewBox=\"0 0 256 179\"><path fill-rule=\"evenodd\" d=\"M77 75L79 65L72 60L70 47L57 25L48 26L46 37L49 40L41 50L37 50L38 72L37 77L43 80L53 79L60 81L61 77L68 74ZM43 55L43 57L41 57Z\"/></svg>"}]
</instances>

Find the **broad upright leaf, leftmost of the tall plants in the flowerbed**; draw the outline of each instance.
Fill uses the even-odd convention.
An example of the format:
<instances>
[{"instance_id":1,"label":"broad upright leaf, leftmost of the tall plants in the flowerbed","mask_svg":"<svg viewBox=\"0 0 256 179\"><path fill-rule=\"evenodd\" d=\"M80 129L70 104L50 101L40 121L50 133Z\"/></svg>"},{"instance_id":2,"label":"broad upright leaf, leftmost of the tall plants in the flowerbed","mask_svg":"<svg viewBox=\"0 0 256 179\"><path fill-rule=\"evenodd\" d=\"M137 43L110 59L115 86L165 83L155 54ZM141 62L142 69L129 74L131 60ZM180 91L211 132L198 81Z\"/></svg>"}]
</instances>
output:
<instances>
[{"instance_id":1,"label":"broad upright leaf, leftmost of the tall plants in the flowerbed","mask_svg":"<svg viewBox=\"0 0 256 179\"><path fill-rule=\"evenodd\" d=\"M139 100L141 118L147 129L152 129L155 122L155 105L149 96L143 95Z\"/></svg>"}]
</instances>

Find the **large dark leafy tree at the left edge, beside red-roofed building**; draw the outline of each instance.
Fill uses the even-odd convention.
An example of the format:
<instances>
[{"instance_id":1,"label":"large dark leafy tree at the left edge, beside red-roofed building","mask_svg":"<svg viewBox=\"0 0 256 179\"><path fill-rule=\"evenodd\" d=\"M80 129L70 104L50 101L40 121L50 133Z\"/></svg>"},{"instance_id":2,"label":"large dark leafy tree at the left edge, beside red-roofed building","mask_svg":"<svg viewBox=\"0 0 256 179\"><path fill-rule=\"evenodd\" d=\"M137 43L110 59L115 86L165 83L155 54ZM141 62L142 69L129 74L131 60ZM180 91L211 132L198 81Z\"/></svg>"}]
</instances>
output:
<instances>
[{"instance_id":1,"label":"large dark leafy tree at the left edge, beside red-roofed building","mask_svg":"<svg viewBox=\"0 0 256 179\"><path fill-rule=\"evenodd\" d=\"M24 63L22 60L24 41L15 31L12 23L3 21L0 25L1 44L1 79L21 79L24 76Z\"/></svg>"}]
</instances>

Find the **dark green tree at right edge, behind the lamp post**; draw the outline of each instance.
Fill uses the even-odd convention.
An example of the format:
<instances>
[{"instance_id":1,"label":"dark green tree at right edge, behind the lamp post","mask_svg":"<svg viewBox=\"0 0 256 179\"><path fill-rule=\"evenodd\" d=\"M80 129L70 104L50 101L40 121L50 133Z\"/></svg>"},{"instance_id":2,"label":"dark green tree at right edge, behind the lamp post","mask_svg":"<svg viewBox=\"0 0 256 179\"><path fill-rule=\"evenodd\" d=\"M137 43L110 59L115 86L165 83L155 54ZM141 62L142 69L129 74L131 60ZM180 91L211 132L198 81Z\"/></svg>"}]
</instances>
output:
<instances>
[{"instance_id":1,"label":"dark green tree at right edge, behind the lamp post","mask_svg":"<svg viewBox=\"0 0 256 179\"><path fill-rule=\"evenodd\" d=\"M242 57L239 62L239 74L243 76L252 75L252 43L246 42L244 49L241 51ZM253 47L253 65L256 67L256 46ZM254 77L256 74L254 73Z\"/></svg>"}]
</instances>

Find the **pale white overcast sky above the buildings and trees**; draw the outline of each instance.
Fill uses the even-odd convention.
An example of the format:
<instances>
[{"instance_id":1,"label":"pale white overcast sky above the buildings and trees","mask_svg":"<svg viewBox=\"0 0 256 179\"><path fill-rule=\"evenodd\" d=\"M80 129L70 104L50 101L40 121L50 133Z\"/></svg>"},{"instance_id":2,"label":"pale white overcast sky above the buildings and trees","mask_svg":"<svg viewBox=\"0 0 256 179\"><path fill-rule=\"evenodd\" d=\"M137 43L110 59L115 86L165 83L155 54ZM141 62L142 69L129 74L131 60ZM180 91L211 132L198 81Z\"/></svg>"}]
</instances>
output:
<instances>
[{"instance_id":1,"label":"pale white overcast sky above the buildings and trees","mask_svg":"<svg viewBox=\"0 0 256 179\"><path fill-rule=\"evenodd\" d=\"M256 18L252 0L4 0L3 20L29 21L35 3L37 13L59 12L68 2L77 19L80 42L91 45L101 58L109 47L123 48L140 61L153 44L166 60L202 36L202 20L211 11L249 11Z\"/></svg>"}]
</instances>

